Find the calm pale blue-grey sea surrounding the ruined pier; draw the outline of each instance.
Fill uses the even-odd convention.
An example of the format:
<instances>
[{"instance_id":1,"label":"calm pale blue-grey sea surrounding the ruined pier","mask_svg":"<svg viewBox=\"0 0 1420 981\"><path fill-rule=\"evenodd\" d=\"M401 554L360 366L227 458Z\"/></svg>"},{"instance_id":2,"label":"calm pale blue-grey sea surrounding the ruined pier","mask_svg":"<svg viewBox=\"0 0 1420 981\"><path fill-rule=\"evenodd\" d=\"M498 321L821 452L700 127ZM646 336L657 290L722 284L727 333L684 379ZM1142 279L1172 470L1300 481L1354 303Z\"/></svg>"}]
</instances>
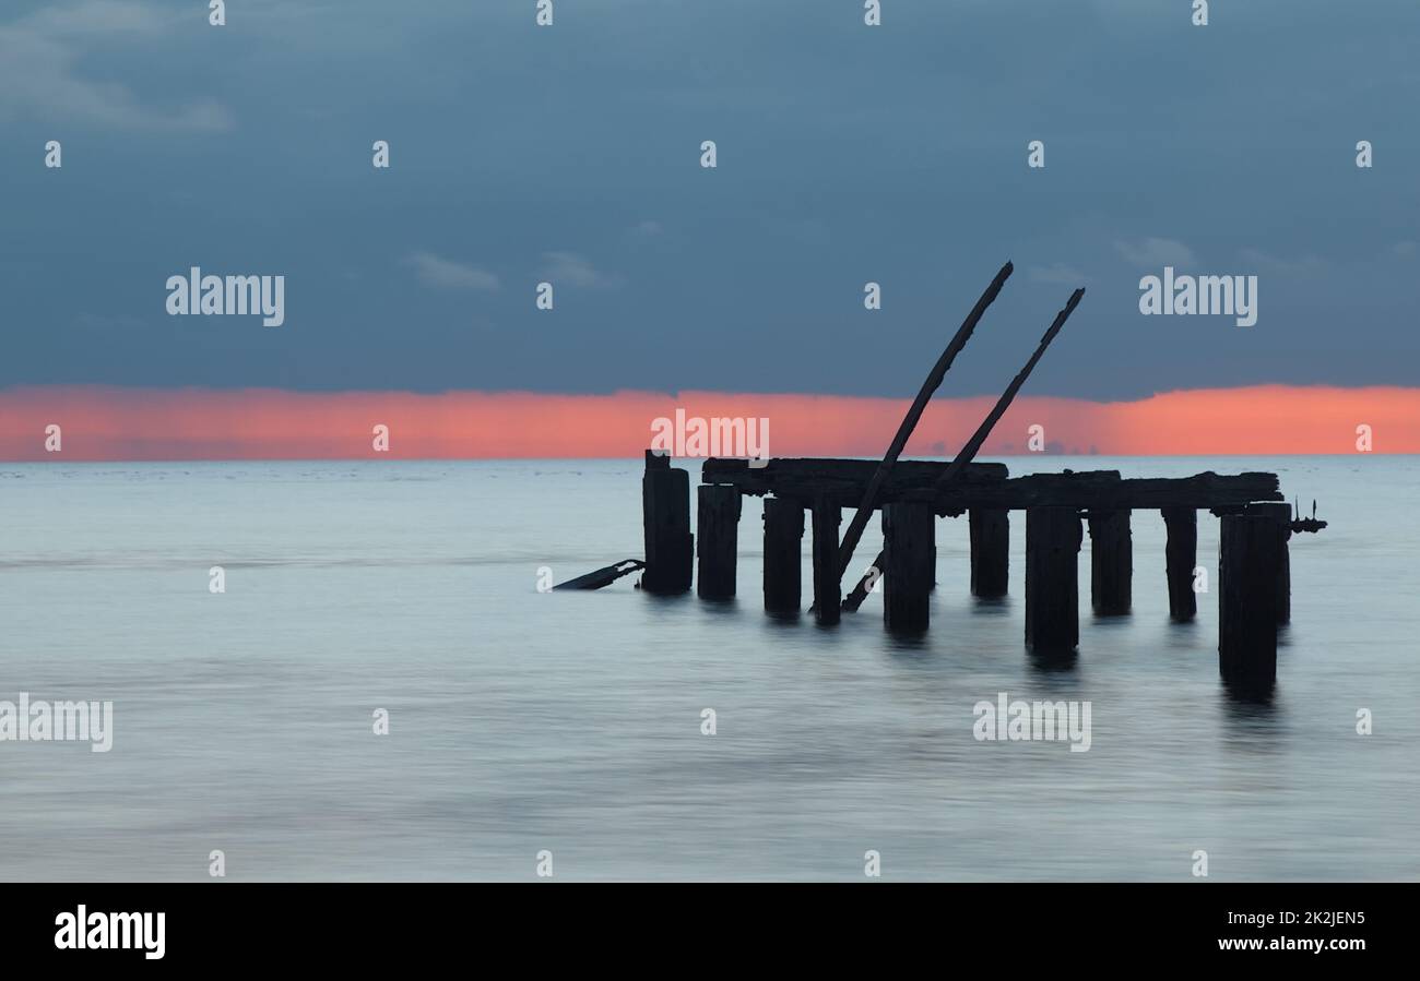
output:
<instances>
[{"instance_id":1,"label":"calm pale blue-grey sea surrounding the ruined pier","mask_svg":"<svg viewBox=\"0 0 1420 981\"><path fill-rule=\"evenodd\" d=\"M214 849L229 879L525 880L544 849L569 880L861 880L868 851L885 879L1187 880L1198 849L1210 879L1420 879L1420 459L1007 464L1318 499L1274 702L1221 688L1216 593L1169 622L1150 512L1130 617L1092 617L1086 536L1059 669L1022 645L1020 515L1004 602L939 522L902 642L879 597L765 617L757 499L734 604L538 593L640 556L639 461L0 465L0 699L114 702L109 753L0 741L0 879L206 879ZM1089 751L976 741L1001 692L1091 702Z\"/></svg>"}]
</instances>

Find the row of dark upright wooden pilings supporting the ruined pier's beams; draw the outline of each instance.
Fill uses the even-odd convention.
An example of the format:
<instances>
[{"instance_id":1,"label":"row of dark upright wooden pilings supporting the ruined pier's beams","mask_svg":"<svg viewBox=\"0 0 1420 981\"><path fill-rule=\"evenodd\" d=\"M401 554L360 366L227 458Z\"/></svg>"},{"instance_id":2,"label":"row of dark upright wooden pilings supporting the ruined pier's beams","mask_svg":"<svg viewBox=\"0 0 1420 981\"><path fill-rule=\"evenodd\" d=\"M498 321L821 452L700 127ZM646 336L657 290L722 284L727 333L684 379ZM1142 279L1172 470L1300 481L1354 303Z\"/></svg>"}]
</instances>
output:
<instances>
[{"instance_id":1,"label":"row of dark upright wooden pilings supporting the ruined pier's beams","mask_svg":"<svg viewBox=\"0 0 1420 981\"><path fill-rule=\"evenodd\" d=\"M741 490L707 483L697 489L696 533L690 530L689 473L670 459L646 455L642 482L646 570L640 585L656 594L687 593L704 600L737 593L736 567ZM1129 509L1025 508L1025 644L1032 652L1062 655L1079 645L1079 550L1091 536L1091 602L1099 617L1132 608L1133 540ZM1196 573L1198 509L1159 509L1166 532L1164 571L1169 614L1191 621L1197 614ZM883 529L880 578L883 622L896 634L924 632L936 580L936 513L924 502L889 502L880 508ZM971 594L1003 597L1010 580L1010 510L973 508L970 529ZM1288 539L1291 506L1254 503L1221 516L1218 554L1218 666L1223 678L1245 690L1269 690L1277 676L1277 629L1291 614ZM797 612L802 607L802 539L811 533L812 607L821 624L835 624L843 610L838 567L841 506L828 498L764 499L764 608ZM870 587L870 583L869 583Z\"/></svg>"}]
</instances>

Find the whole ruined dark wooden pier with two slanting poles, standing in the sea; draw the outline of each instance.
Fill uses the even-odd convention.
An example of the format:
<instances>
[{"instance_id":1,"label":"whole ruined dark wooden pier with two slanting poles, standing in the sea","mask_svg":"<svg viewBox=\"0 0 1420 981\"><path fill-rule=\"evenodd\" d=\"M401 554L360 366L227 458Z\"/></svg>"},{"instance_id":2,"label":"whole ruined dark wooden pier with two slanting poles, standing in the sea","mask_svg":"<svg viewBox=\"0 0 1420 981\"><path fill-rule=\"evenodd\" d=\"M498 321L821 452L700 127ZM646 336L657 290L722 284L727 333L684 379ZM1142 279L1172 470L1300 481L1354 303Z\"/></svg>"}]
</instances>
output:
<instances>
[{"instance_id":1,"label":"whole ruined dark wooden pier with two slanting poles, standing in the sea","mask_svg":"<svg viewBox=\"0 0 1420 981\"><path fill-rule=\"evenodd\" d=\"M1133 602L1135 512L1159 512L1167 530L1164 578L1169 615L1197 614L1198 512L1223 520L1218 557L1218 665L1235 688L1267 692L1277 676L1277 628L1291 612L1288 539L1319 532L1325 522L1292 515L1275 473L1197 473L1189 478L1130 478L1118 471L1034 473L1012 478L1003 464L978 464L976 454L1085 295L1076 289L1041 336L1025 366L950 462L902 461L913 430L947 370L1011 276L1007 262L977 299L880 461L717 459L704 462L697 490L697 525L690 532L690 475L646 452L642 479L646 561L640 588L683 594L697 583L704 600L736 595L741 499L764 500L764 607L802 605L802 539L811 540L812 605L821 624L855 612L882 583L883 622L895 632L929 628L936 584L936 519L968 516L971 593L1001 597L1010 583L1011 512L1025 512L1025 644L1058 655L1079 645L1078 556L1091 537L1091 602L1098 617L1123 617ZM846 530L842 510L852 508ZM1315 510L1315 506L1314 506ZM873 513L882 515L883 551L843 595L843 576ZM693 568L699 557L699 570ZM565 584L599 588L619 566Z\"/></svg>"}]
</instances>

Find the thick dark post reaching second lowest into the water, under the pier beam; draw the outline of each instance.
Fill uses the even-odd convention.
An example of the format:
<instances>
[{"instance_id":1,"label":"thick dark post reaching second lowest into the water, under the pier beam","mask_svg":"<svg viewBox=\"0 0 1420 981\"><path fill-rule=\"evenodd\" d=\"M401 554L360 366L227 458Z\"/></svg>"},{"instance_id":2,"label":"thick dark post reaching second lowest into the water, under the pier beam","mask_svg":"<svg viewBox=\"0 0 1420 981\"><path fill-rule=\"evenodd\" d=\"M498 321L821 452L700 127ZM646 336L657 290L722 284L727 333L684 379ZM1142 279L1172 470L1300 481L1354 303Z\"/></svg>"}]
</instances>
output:
<instances>
[{"instance_id":1,"label":"thick dark post reaching second lowest into the water, under the pier beam","mask_svg":"<svg viewBox=\"0 0 1420 981\"><path fill-rule=\"evenodd\" d=\"M1079 512L1025 510L1025 644L1032 651L1079 646Z\"/></svg>"}]
</instances>

